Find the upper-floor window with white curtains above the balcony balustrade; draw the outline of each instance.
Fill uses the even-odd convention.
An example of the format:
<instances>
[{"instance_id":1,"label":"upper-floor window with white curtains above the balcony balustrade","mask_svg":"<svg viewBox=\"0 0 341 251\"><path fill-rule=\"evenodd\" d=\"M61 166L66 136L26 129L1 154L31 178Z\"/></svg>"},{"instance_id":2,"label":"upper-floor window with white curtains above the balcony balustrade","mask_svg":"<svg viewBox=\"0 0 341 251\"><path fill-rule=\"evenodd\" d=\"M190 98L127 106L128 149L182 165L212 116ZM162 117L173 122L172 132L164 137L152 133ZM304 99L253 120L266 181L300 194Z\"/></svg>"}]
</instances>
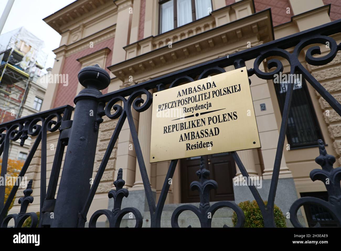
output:
<instances>
[{"instance_id":1,"label":"upper-floor window with white curtains above the balcony balustrade","mask_svg":"<svg viewBox=\"0 0 341 251\"><path fill-rule=\"evenodd\" d=\"M211 0L160 0L160 33L208 16Z\"/></svg>"}]
</instances>

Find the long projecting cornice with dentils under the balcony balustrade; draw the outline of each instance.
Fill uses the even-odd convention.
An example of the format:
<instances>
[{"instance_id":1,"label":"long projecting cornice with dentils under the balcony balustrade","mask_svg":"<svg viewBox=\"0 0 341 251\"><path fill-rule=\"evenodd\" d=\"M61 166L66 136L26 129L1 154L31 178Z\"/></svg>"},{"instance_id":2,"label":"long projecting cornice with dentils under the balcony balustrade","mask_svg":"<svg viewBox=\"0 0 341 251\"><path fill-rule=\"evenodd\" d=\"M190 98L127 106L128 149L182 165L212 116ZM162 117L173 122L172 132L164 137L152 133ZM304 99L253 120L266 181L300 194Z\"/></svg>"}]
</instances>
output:
<instances>
[{"instance_id":1,"label":"long projecting cornice with dentils under the balcony balustrade","mask_svg":"<svg viewBox=\"0 0 341 251\"><path fill-rule=\"evenodd\" d=\"M270 9L235 20L231 23L198 33L194 36L174 42L172 48L168 44L150 52L109 66L108 69L124 82L124 79L146 69L155 69L172 64L182 58L195 56L204 50L212 50L217 46L228 46L237 41L257 37L259 41L272 41L272 22ZM150 40L146 38L145 40ZM144 42L139 41L139 43ZM126 46L125 49L131 48ZM228 48L227 50L228 51Z\"/></svg>"}]
</instances>

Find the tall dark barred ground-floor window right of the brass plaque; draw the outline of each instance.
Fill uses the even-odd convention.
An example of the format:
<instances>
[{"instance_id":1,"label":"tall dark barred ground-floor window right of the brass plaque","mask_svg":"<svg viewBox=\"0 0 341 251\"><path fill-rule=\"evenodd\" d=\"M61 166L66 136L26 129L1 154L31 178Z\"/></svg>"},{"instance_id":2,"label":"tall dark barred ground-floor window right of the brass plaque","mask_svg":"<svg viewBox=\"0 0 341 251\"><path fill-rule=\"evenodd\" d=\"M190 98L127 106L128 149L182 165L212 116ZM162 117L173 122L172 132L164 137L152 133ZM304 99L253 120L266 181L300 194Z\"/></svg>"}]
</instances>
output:
<instances>
[{"instance_id":1,"label":"tall dark barred ground-floor window right of the brass plaque","mask_svg":"<svg viewBox=\"0 0 341 251\"><path fill-rule=\"evenodd\" d=\"M285 81L275 83L276 95L282 115L287 87L288 83ZM318 139L323 140L304 79L302 79L302 84L300 84L299 79L294 81L286 137L290 149L317 145Z\"/></svg>"}]
</instances>

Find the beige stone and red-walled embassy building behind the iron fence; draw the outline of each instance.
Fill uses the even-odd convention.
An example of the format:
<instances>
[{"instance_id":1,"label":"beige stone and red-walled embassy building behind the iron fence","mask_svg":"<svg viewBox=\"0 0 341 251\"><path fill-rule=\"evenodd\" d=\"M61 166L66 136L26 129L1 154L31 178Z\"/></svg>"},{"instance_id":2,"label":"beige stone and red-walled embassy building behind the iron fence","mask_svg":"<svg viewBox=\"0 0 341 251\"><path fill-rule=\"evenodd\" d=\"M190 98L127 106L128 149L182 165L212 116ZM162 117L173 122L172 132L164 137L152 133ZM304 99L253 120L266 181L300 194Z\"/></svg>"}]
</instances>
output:
<instances>
[{"instance_id":1,"label":"beige stone and red-walled embassy building behind the iron fence","mask_svg":"<svg viewBox=\"0 0 341 251\"><path fill-rule=\"evenodd\" d=\"M80 69L98 64L111 76L109 87L103 93L141 83L183 68L231 55L290 34L307 30L341 18L341 1L330 0L77 0L44 21L61 35L60 46L54 50L56 62L52 74L68 74L68 85L48 84L42 110L70 104L83 88L77 80ZM340 37L334 37L340 42ZM171 45L171 46L169 46ZM340 99L340 62L336 59L325 66L308 65L304 55L302 64L325 88ZM283 60L284 71L290 69ZM247 61L248 68L253 60ZM267 71L266 62L261 70ZM233 70L227 67L225 70ZM261 149L238 152L250 176L261 177L261 195L266 199L272 176L282 109L286 93L286 83L274 84L272 80L251 79L251 92ZM314 159L319 155L317 140L323 139L329 154L338 158L341 164L341 117L328 103L306 83L295 86L294 102L289 115L289 124L283 151L277 196L275 203L288 212L292 203L303 196L326 199L327 193L322 182L312 182L309 173L320 168ZM330 112L329 116L325 111ZM146 169L150 183L158 199L169 162L150 164L149 148L151 134L151 108L143 113L134 113L134 122L142 145ZM97 144L93 177L99 168L106 147L113 134L117 120L103 117ZM58 132L47 139L56 144ZM119 168L123 168L123 179L129 190L129 197L123 200L124 206L137 207L148 226L149 211L145 210L145 194L128 122L123 125L118 142L111 154L97 193L87 215L89 220L94 211L112 209L113 201L108 191L113 189ZM48 150L47 170L51 170L54 151ZM175 204L198 203L197 192L190 191L189 184L197 180L200 157L181 159L170 186L163 211L163 226L170 226L170 215ZM218 189L211 194L211 201L232 200L236 203L252 199L248 187L234 186L234 177L240 171L228 153L205 156L210 178L218 182ZM40 157L35 156L27 176L40 179ZM29 211L39 211L39 182L34 183L34 202ZM18 192L20 193L20 191ZM20 193L21 194L21 193ZM123 206L123 205L122 205ZM11 211L19 211L16 205ZM314 225L314 207L301 208L301 220ZM219 214L213 224L231 225L231 213ZM180 216L181 218L181 216ZM134 220L122 224L131 226ZM182 226L198 226L195 215L182 218ZM332 220L326 219L330 225ZM98 225L105 225L105 217ZM288 224L290 224L288 222Z\"/></svg>"}]
</instances>

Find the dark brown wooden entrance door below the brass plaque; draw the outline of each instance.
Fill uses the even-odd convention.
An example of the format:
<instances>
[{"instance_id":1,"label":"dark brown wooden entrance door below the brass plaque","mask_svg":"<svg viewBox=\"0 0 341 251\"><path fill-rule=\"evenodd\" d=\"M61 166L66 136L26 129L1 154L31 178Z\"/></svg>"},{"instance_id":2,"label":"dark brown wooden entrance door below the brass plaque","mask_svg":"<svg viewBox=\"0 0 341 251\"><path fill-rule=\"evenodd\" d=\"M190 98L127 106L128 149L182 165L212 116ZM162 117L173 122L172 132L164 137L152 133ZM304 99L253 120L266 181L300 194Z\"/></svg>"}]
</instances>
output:
<instances>
[{"instance_id":1,"label":"dark brown wooden entrance door below the brass plaque","mask_svg":"<svg viewBox=\"0 0 341 251\"><path fill-rule=\"evenodd\" d=\"M211 190L210 201L234 200L233 178L236 167L229 153L217 153L204 156L206 169L210 171L210 179L217 181L218 189ZM200 156L181 159L181 203L199 202L197 190L191 191L192 181L199 180L196 171L200 168Z\"/></svg>"}]
</instances>

